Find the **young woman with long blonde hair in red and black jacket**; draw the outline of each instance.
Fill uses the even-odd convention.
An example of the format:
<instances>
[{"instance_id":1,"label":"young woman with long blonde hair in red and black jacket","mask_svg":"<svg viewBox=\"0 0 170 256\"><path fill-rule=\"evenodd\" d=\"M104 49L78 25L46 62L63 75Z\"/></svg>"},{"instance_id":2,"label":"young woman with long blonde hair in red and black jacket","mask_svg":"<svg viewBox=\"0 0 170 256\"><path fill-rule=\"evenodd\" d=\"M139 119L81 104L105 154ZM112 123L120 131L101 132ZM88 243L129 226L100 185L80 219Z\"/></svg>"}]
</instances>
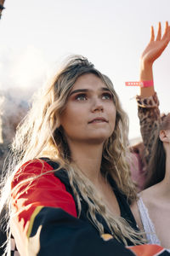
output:
<instances>
[{"instance_id":1,"label":"young woman with long blonde hair in red and black jacket","mask_svg":"<svg viewBox=\"0 0 170 256\"><path fill-rule=\"evenodd\" d=\"M9 222L20 255L121 255L121 243L142 242L127 203L136 199L127 115L87 59L73 56L37 97L11 150Z\"/></svg>"}]
</instances>

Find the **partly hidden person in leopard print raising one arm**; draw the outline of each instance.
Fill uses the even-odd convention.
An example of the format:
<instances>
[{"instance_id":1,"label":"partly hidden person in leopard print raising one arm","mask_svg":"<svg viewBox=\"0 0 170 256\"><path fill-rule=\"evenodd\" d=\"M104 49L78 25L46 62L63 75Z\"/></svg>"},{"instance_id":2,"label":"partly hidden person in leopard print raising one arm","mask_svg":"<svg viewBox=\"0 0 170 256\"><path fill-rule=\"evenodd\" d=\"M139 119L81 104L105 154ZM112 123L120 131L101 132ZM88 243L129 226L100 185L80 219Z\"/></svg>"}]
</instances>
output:
<instances>
[{"instance_id":1,"label":"partly hidden person in leopard print raising one arm","mask_svg":"<svg viewBox=\"0 0 170 256\"><path fill-rule=\"evenodd\" d=\"M150 152L153 142L156 138L156 132L161 123L161 113L159 110L159 100L153 83L153 64L167 48L169 43L169 26L166 22L164 35L161 37L161 23L158 24L158 31L155 39L154 28L151 26L150 43L144 49L140 59L139 80L146 83L146 87L140 87L140 94L136 96L138 103L138 115L141 136L143 143L135 145L131 151L136 157L137 164L132 168L133 180L137 183L139 191L144 189L144 183L147 176L147 166L150 160ZM164 115L162 115L163 117ZM133 158L134 158L133 157ZM139 168L136 168L139 166Z\"/></svg>"}]
</instances>

